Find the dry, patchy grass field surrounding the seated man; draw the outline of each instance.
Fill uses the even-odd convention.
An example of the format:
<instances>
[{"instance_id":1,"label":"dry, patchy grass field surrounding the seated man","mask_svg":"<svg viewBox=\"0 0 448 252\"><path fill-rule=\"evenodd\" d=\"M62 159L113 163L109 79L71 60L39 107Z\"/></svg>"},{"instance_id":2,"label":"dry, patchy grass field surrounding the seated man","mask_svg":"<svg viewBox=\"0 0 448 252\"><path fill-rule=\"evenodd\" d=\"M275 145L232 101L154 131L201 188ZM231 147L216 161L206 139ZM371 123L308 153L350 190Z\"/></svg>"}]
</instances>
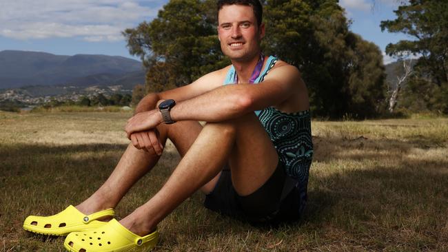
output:
<instances>
[{"instance_id":1,"label":"dry, patchy grass field surrounding the seated man","mask_svg":"<svg viewBox=\"0 0 448 252\"><path fill-rule=\"evenodd\" d=\"M63 251L30 235L30 214L78 204L108 177L130 112L0 112L0 251ZM195 193L161 224L154 251L447 251L448 119L313 122L303 219L256 229L202 207ZM124 217L163 185L172 145L116 208Z\"/></svg>"}]
</instances>

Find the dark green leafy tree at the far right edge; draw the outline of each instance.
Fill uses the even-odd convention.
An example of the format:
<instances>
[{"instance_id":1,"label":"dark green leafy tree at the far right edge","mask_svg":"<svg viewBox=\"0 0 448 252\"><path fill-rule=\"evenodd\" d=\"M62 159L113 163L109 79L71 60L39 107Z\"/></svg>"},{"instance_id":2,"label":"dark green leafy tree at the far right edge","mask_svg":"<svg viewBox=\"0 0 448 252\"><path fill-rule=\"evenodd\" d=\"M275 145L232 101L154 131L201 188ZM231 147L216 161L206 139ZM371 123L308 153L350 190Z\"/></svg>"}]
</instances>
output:
<instances>
[{"instance_id":1,"label":"dark green leafy tree at the far right edge","mask_svg":"<svg viewBox=\"0 0 448 252\"><path fill-rule=\"evenodd\" d=\"M420 55L405 88L405 104L448 114L448 1L409 0L395 13L397 18L382 21L381 29L403 32L413 40L387 45L387 54Z\"/></svg>"}]
</instances>

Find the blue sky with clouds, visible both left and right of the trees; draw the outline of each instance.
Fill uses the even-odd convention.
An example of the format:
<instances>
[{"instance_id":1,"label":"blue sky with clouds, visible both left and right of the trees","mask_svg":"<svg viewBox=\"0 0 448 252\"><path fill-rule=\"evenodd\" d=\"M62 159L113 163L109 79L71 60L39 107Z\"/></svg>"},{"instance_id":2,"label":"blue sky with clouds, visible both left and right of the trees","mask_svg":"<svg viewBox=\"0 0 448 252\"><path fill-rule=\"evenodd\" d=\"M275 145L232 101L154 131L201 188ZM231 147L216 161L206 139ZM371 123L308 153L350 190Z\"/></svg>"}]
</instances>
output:
<instances>
[{"instance_id":1,"label":"blue sky with clouds, visible both left and right of the trees","mask_svg":"<svg viewBox=\"0 0 448 252\"><path fill-rule=\"evenodd\" d=\"M168 0L0 0L0 51L24 50L59 55L129 54L121 32L151 21ZM378 45L409 39L381 32L380 21L395 19L400 0L339 0L352 20L350 29Z\"/></svg>"}]
</instances>

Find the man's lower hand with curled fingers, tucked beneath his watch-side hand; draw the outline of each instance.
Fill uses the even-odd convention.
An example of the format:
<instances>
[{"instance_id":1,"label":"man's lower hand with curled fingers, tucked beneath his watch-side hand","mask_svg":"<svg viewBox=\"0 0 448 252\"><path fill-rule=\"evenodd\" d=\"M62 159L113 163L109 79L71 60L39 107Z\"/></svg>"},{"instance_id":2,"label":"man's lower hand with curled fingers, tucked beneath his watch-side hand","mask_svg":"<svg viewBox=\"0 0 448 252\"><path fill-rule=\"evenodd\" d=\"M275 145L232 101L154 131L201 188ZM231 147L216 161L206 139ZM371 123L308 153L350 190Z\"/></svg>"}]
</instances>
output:
<instances>
[{"instance_id":1,"label":"man's lower hand with curled fingers, tucked beneath his watch-side hand","mask_svg":"<svg viewBox=\"0 0 448 252\"><path fill-rule=\"evenodd\" d=\"M137 149L143 149L149 153L154 152L158 156L162 155L163 145L161 144L159 131L150 129L144 132L134 132L131 134L132 145Z\"/></svg>"}]
</instances>

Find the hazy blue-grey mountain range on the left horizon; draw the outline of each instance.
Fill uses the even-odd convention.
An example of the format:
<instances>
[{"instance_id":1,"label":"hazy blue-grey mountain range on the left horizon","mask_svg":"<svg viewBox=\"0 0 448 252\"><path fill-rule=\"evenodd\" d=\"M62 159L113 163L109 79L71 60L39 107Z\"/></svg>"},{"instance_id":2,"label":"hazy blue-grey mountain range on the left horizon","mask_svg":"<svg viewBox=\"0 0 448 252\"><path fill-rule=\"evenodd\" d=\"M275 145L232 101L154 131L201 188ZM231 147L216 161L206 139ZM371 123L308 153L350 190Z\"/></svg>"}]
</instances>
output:
<instances>
[{"instance_id":1,"label":"hazy blue-grey mountain range on the left horizon","mask_svg":"<svg viewBox=\"0 0 448 252\"><path fill-rule=\"evenodd\" d=\"M0 52L0 89L24 86L122 85L132 89L145 83L142 63L122 56L4 50Z\"/></svg>"}]
</instances>

